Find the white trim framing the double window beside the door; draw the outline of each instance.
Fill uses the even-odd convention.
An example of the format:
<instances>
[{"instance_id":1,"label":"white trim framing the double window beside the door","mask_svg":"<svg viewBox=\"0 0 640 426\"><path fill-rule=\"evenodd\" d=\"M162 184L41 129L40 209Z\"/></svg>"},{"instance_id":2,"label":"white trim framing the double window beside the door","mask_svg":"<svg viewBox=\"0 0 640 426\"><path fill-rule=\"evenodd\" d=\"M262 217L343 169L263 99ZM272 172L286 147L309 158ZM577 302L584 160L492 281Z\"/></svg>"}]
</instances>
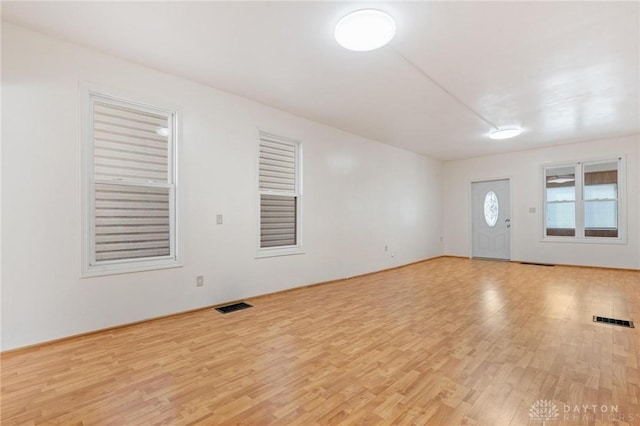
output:
<instances>
[{"instance_id":1,"label":"white trim framing the double window beside the door","mask_svg":"<svg viewBox=\"0 0 640 426\"><path fill-rule=\"evenodd\" d=\"M590 164L601 163L618 163L618 236L617 237L587 237L585 236L585 199L584 199L584 167ZM576 176L576 200L575 214L576 226L575 236L556 236L547 235L547 182L546 170L549 168L575 167ZM557 163L544 163L540 166L542 182L542 226L541 237L542 242L554 243L580 243L580 244L627 244L627 192L626 192L626 157L624 155L612 155L609 157L599 157L595 159L580 161L564 161Z\"/></svg>"}]
</instances>

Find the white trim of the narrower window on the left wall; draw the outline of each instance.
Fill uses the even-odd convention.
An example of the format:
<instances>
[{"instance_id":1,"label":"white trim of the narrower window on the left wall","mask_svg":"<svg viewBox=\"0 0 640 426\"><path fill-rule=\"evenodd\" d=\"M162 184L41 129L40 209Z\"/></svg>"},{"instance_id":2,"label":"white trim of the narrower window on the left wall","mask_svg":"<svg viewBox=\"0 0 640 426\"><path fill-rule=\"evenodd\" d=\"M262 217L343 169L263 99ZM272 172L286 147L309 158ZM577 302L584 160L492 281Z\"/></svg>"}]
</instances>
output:
<instances>
[{"instance_id":1,"label":"white trim of the narrower window on the left wall","mask_svg":"<svg viewBox=\"0 0 640 426\"><path fill-rule=\"evenodd\" d=\"M282 246L282 247L260 247L260 197L262 195L287 195L290 194L279 194L277 192L272 191L261 191L260 190L260 145L262 140L273 141L277 143L285 143L289 145L296 146L296 176L295 176L295 185L296 185L296 245L291 246ZM257 197L256 197L256 253L255 258L267 258L267 257L276 257L276 256L291 256L297 254L304 254L304 246L303 246L303 185L302 185L302 176L303 176L303 142L299 139L291 139L283 136L276 135L271 132L263 131L258 129L258 143L256 145L257 155L256 155L256 185L258 187Z\"/></svg>"}]
</instances>

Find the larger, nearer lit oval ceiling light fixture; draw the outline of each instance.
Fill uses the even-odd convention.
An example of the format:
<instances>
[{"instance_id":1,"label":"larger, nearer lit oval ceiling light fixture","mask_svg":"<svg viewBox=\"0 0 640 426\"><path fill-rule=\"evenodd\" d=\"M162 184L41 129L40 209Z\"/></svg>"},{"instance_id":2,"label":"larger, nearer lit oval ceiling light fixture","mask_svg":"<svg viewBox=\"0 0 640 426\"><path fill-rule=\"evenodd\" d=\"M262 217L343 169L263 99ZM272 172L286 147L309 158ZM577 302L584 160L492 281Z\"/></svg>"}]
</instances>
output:
<instances>
[{"instance_id":1,"label":"larger, nearer lit oval ceiling light fixture","mask_svg":"<svg viewBox=\"0 0 640 426\"><path fill-rule=\"evenodd\" d=\"M345 49L366 52L389 43L396 34L393 18L377 9L361 9L343 17L334 32L338 44Z\"/></svg>"}]
</instances>

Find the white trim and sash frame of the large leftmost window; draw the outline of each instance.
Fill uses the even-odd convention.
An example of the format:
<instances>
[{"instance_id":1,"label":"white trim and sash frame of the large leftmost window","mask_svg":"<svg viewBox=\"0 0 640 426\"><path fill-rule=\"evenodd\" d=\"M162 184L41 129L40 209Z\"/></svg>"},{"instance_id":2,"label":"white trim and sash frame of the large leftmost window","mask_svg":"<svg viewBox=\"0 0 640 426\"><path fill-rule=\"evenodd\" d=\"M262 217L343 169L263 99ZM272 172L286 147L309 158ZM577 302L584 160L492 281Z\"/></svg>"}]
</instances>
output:
<instances>
[{"instance_id":1,"label":"white trim and sash frame of the large leftmost window","mask_svg":"<svg viewBox=\"0 0 640 426\"><path fill-rule=\"evenodd\" d=\"M181 267L180 234L178 226L178 145L180 140L180 114L176 108L160 107L155 102L140 99L140 96L130 96L113 89L91 83L80 82L80 162L81 162L81 269L80 277L88 278L103 275L151 271L157 269ZM170 222L170 254L155 258L118 259L95 262L95 190L96 183L130 185L130 182L117 180L103 180L93 178L93 114L92 106L98 99L112 105L122 105L141 111L167 115L169 123L170 147L168 152L168 182L146 183L140 186L169 188L169 222ZM135 186L135 185L133 185Z\"/></svg>"}]
</instances>

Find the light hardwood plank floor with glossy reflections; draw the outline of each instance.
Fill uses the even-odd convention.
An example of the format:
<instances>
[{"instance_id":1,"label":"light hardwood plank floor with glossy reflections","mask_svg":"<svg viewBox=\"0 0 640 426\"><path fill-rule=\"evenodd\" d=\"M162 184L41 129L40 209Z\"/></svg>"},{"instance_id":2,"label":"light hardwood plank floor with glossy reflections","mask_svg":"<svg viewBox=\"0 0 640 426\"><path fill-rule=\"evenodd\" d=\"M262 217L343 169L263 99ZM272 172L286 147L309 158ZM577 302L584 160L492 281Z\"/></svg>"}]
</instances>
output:
<instances>
[{"instance_id":1,"label":"light hardwood plank floor with glossy reflections","mask_svg":"<svg viewBox=\"0 0 640 426\"><path fill-rule=\"evenodd\" d=\"M2 425L640 424L640 328L592 322L640 327L640 272L440 258L247 301L4 354Z\"/></svg>"}]
</instances>

